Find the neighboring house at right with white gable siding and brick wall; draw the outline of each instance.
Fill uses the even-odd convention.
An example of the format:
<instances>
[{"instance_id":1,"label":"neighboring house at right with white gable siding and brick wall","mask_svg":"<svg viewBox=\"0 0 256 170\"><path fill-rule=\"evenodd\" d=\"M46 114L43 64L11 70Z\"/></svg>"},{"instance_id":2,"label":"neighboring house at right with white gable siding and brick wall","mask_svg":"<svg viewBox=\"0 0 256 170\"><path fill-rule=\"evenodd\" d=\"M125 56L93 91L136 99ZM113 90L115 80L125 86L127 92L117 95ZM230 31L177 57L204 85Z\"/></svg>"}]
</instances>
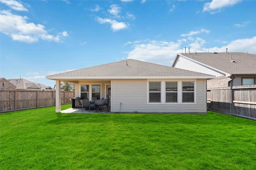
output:
<instances>
[{"instance_id":1,"label":"neighboring house at right with white gable siding and brick wall","mask_svg":"<svg viewBox=\"0 0 256 170\"><path fill-rule=\"evenodd\" d=\"M172 67L216 76L207 89L256 84L256 55L248 53L178 53Z\"/></svg>"}]
</instances>

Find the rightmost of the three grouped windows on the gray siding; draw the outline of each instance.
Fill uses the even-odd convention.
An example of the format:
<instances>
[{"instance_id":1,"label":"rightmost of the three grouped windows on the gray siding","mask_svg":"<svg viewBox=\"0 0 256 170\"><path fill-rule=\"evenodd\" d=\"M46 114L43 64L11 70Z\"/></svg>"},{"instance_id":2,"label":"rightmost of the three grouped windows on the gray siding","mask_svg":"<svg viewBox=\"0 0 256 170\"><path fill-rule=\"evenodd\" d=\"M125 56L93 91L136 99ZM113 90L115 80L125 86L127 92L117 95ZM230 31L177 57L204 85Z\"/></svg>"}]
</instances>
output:
<instances>
[{"instance_id":1,"label":"rightmost of the three grouped windows on the gray siding","mask_svg":"<svg viewBox=\"0 0 256 170\"><path fill-rule=\"evenodd\" d=\"M194 81L182 82L182 102L194 102Z\"/></svg>"}]
</instances>

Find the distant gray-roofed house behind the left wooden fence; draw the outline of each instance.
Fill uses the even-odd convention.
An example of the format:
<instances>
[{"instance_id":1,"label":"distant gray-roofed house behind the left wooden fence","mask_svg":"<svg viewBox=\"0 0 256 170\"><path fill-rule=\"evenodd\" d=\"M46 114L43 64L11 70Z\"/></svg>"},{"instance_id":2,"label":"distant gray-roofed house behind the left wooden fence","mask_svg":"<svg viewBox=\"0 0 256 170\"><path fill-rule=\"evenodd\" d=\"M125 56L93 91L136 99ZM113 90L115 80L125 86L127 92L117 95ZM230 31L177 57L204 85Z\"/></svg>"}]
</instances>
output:
<instances>
[{"instance_id":1,"label":"distant gray-roofed house behind the left wooden fence","mask_svg":"<svg viewBox=\"0 0 256 170\"><path fill-rule=\"evenodd\" d=\"M50 90L52 89L50 86L45 86L43 84L36 84L24 78L12 78L8 79L8 81L14 84L16 89L38 89L38 90Z\"/></svg>"}]
</instances>

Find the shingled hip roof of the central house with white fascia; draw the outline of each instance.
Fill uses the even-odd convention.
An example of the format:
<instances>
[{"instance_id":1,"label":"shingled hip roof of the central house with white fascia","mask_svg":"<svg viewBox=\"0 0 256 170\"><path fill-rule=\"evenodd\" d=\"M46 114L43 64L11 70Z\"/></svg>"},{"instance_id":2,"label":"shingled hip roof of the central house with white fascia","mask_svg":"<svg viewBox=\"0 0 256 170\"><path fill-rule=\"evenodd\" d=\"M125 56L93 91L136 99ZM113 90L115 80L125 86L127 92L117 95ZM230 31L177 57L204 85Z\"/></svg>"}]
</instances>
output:
<instances>
[{"instance_id":1,"label":"shingled hip roof of the central house with white fascia","mask_svg":"<svg viewBox=\"0 0 256 170\"><path fill-rule=\"evenodd\" d=\"M170 66L147 63L134 59L83 68L47 76L48 79L96 79L96 78L215 78L209 74L192 72Z\"/></svg>"}]
</instances>

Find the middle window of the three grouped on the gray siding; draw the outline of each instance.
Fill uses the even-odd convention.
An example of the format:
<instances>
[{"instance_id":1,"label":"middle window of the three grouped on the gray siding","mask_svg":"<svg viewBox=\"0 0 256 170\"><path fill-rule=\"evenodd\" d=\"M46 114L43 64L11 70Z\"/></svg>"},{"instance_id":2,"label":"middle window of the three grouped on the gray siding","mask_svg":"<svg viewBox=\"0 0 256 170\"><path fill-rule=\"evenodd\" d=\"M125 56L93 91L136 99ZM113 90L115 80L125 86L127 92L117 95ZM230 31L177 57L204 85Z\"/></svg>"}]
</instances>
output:
<instances>
[{"instance_id":1,"label":"middle window of the three grouped on the gray siding","mask_svg":"<svg viewBox=\"0 0 256 170\"><path fill-rule=\"evenodd\" d=\"M178 102L178 82L166 82L166 103Z\"/></svg>"}]
</instances>

